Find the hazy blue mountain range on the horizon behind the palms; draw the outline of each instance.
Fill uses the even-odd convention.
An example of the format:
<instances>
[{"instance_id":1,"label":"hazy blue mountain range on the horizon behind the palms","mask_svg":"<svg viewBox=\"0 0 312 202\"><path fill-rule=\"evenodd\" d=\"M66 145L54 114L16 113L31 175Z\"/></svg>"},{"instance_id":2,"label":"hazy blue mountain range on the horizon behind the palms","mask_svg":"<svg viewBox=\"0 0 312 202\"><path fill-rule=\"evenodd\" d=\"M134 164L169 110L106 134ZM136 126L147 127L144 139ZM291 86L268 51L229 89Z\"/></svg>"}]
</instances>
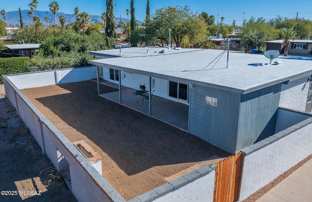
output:
<instances>
[{"instance_id":1,"label":"hazy blue mountain range on the horizon behind the palms","mask_svg":"<svg viewBox=\"0 0 312 202\"><path fill-rule=\"evenodd\" d=\"M21 16L22 16L24 25L30 24L30 18L28 16L28 11L30 11L30 10L22 10L21 11ZM34 15L35 15L35 11L33 11L33 12L34 12ZM74 22L76 20L76 16L74 14L66 14L66 13L60 12L60 13L57 13L57 15L55 16L55 23L56 24L60 24L59 23L59 16L60 15L65 16L65 18L66 18L65 24L72 23L72 22ZM48 17L50 19L49 23L53 24L53 13L52 12L50 12L50 11L37 11L37 16L41 19L41 22L42 22L43 25L47 25L47 23L44 21L45 17ZM90 15L90 18L91 18L91 22L94 22L94 23L97 23L98 21L103 22L103 20L101 19L101 16ZM115 17L116 25L119 23L119 21L120 21L120 18ZM127 19L121 18L121 21L126 22ZM19 14L19 11L7 12L6 13L6 20L5 20L5 22L8 25L20 26L20 14ZM137 23L142 24L143 22L137 20Z\"/></svg>"}]
</instances>

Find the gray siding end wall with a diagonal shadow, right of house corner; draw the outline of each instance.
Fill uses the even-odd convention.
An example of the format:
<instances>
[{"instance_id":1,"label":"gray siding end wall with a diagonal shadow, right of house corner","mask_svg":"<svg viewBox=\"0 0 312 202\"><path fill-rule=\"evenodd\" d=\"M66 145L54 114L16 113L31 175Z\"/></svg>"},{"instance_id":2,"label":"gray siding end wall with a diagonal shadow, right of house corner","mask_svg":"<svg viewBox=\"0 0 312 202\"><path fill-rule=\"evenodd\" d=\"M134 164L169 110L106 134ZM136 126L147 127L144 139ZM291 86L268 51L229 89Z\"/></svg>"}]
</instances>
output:
<instances>
[{"instance_id":1,"label":"gray siding end wall with a diagonal shadow, right of house corner","mask_svg":"<svg viewBox=\"0 0 312 202\"><path fill-rule=\"evenodd\" d=\"M241 95L236 151L274 134L281 84Z\"/></svg>"}]
</instances>

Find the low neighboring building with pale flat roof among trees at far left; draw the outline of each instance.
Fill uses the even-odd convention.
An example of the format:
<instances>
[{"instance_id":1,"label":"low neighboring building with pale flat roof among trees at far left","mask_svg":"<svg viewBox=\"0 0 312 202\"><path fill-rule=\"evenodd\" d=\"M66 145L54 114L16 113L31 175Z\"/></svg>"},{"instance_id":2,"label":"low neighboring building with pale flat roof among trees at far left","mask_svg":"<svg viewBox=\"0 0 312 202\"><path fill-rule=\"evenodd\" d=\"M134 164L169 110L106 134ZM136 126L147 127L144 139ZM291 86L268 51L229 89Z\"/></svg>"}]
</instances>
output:
<instances>
[{"instance_id":1,"label":"low neighboring building with pale flat roof among trees at far left","mask_svg":"<svg viewBox=\"0 0 312 202\"><path fill-rule=\"evenodd\" d=\"M25 43L25 44L13 44L13 45L4 45L9 49L10 52L20 54L20 56L31 57L36 51L39 50L39 43Z\"/></svg>"}]
</instances>

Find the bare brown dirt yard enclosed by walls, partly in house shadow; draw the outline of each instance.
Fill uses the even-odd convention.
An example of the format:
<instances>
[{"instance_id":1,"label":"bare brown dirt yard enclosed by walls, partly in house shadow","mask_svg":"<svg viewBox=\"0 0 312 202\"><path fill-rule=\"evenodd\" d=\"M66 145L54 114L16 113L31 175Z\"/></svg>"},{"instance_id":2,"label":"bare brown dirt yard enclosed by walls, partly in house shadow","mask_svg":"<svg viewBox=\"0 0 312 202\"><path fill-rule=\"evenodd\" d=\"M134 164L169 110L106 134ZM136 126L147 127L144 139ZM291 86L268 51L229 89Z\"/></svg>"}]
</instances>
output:
<instances>
[{"instance_id":1,"label":"bare brown dirt yard enclosed by walls, partly in house shadow","mask_svg":"<svg viewBox=\"0 0 312 202\"><path fill-rule=\"evenodd\" d=\"M116 89L101 87L104 92ZM103 177L130 200L191 166L229 153L176 127L98 96L84 81L22 93L71 141L102 157Z\"/></svg>"}]
</instances>

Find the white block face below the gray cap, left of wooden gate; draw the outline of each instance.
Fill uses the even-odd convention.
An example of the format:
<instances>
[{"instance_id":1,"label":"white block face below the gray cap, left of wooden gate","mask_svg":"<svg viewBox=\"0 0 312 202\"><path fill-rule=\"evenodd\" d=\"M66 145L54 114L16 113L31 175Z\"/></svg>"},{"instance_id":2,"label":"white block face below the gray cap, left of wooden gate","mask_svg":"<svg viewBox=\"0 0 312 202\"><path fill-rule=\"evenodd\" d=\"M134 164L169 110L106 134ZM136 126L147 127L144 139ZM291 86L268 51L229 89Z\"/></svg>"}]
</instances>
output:
<instances>
[{"instance_id":1,"label":"white block face below the gray cap, left of wooden gate","mask_svg":"<svg viewBox=\"0 0 312 202\"><path fill-rule=\"evenodd\" d=\"M213 202L215 170L176 191L170 192L154 202Z\"/></svg>"}]
</instances>

